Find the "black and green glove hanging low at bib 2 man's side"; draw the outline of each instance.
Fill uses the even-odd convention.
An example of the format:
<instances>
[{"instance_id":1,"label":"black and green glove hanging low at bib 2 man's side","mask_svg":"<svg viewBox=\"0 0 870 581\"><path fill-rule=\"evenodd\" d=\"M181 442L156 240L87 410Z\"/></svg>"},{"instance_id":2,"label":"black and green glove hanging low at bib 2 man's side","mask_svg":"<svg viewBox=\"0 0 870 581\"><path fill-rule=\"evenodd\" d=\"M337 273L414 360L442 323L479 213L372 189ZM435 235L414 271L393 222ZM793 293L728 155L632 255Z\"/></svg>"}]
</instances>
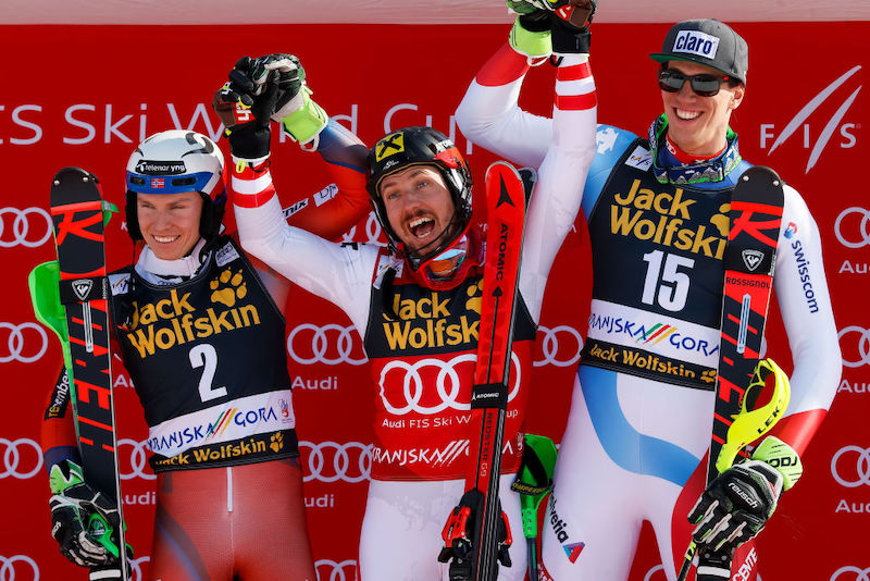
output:
<instances>
[{"instance_id":1,"label":"black and green glove hanging low at bib 2 man's side","mask_svg":"<svg viewBox=\"0 0 870 581\"><path fill-rule=\"evenodd\" d=\"M117 563L107 547L88 531L92 515L100 515L111 530L120 526L117 508L91 489L82 468L72 460L51 467L51 535L64 557L82 567L111 566ZM111 534L111 531L110 531Z\"/></svg>"}]
</instances>

